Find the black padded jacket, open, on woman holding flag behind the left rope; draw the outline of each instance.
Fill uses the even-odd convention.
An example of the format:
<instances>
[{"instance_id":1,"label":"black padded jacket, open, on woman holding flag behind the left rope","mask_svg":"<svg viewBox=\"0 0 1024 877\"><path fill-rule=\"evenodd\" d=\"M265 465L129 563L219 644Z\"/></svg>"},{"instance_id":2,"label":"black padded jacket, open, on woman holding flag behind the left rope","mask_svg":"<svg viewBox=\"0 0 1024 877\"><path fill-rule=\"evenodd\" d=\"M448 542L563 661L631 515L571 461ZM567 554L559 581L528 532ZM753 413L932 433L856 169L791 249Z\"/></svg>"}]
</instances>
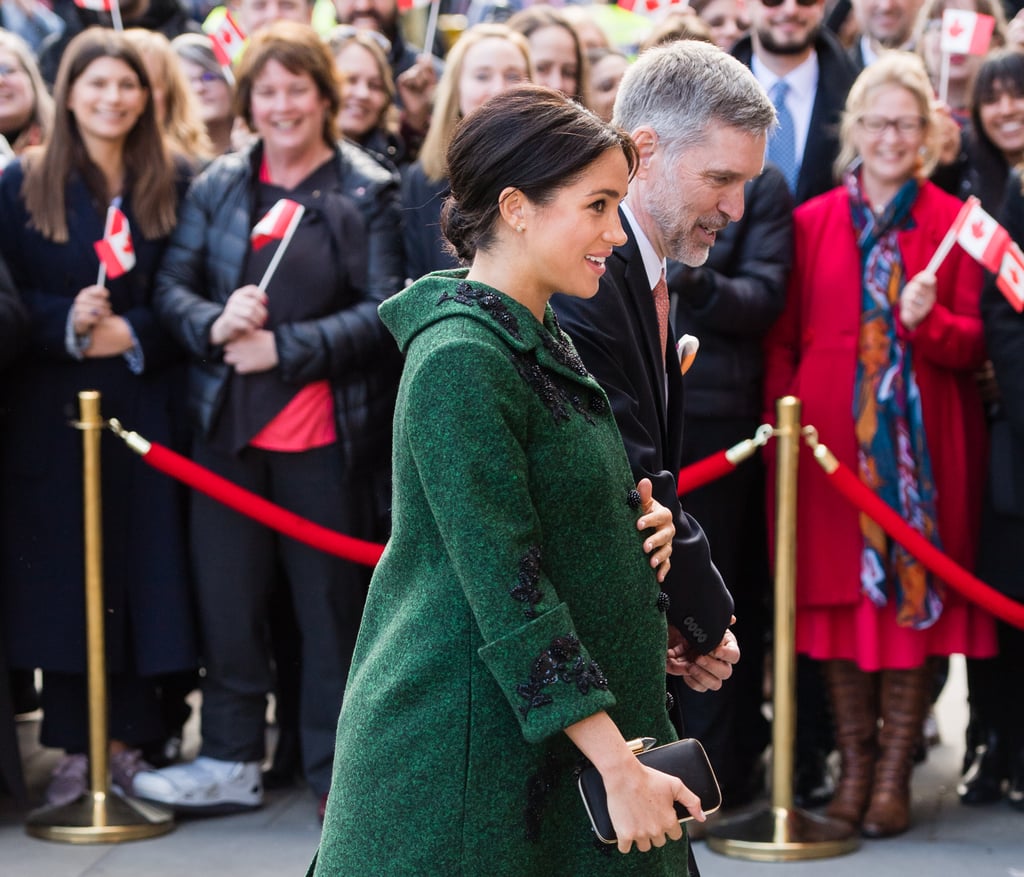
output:
<instances>
[{"instance_id":1,"label":"black padded jacket, open, on woman holding flag behind the left rope","mask_svg":"<svg viewBox=\"0 0 1024 877\"><path fill-rule=\"evenodd\" d=\"M157 275L154 306L191 358L188 407L208 436L223 402L230 367L211 346L210 327L238 289L249 251L254 187L262 147L214 161L193 182ZM397 347L377 305L402 286L398 186L395 176L350 143L336 147L342 192L366 221L367 288L350 306L318 320L274 329L284 380L302 385L328 378L338 436L349 467L389 463Z\"/></svg>"}]
</instances>

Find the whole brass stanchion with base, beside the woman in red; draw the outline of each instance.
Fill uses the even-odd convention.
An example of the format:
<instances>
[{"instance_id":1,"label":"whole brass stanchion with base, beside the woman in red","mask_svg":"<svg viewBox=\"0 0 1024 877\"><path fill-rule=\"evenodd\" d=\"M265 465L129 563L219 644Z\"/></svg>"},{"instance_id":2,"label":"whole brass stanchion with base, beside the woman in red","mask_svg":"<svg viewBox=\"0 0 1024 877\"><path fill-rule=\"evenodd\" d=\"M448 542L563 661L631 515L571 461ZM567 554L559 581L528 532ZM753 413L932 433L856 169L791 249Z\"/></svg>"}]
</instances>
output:
<instances>
[{"instance_id":1,"label":"whole brass stanchion with base, beside the woman in red","mask_svg":"<svg viewBox=\"0 0 1024 877\"><path fill-rule=\"evenodd\" d=\"M795 862L842 855L859 839L846 823L793 806L793 747L796 738L797 650L797 465L800 459L800 400L777 403L775 505L775 642L772 695L772 794L766 810L724 820L708 830L716 852L755 862Z\"/></svg>"}]
</instances>

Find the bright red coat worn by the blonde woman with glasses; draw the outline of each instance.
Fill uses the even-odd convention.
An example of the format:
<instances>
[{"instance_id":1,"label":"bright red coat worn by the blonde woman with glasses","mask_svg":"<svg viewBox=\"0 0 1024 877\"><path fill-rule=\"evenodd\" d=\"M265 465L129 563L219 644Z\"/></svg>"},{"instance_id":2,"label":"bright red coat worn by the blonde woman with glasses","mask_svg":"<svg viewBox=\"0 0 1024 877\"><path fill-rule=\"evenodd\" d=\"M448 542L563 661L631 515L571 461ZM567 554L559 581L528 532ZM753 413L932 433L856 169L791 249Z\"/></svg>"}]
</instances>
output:
<instances>
[{"instance_id":1,"label":"bright red coat worn by the blonde woman with glasses","mask_svg":"<svg viewBox=\"0 0 1024 877\"><path fill-rule=\"evenodd\" d=\"M914 226L899 233L905 277L928 264L961 202L925 183L911 209ZM786 307L766 339L766 406L793 394L802 421L854 471L853 422L860 331L861 268L845 187L794 213L794 264ZM985 471L985 425L974 371L985 361L978 303L980 266L954 246L938 270L938 300L909 342L921 389L925 433L937 489L943 550L972 569ZM797 521L798 605L855 603L862 540L857 511L801 453Z\"/></svg>"}]
</instances>

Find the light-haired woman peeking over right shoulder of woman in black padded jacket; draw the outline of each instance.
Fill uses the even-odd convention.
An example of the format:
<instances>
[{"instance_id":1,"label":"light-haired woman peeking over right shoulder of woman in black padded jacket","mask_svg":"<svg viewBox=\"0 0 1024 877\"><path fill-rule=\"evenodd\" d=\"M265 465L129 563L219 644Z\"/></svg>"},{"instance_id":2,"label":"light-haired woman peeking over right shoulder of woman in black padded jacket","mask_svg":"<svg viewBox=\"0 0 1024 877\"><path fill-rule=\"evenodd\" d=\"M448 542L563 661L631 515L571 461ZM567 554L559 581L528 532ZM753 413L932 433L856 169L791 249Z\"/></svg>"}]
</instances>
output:
<instances>
[{"instance_id":1,"label":"light-haired woman peeking over right shoulder of woman in black padded jacket","mask_svg":"<svg viewBox=\"0 0 1024 877\"><path fill-rule=\"evenodd\" d=\"M404 165L408 154L394 107L387 38L339 25L328 36L328 45L342 81L341 133L388 168Z\"/></svg>"}]
</instances>

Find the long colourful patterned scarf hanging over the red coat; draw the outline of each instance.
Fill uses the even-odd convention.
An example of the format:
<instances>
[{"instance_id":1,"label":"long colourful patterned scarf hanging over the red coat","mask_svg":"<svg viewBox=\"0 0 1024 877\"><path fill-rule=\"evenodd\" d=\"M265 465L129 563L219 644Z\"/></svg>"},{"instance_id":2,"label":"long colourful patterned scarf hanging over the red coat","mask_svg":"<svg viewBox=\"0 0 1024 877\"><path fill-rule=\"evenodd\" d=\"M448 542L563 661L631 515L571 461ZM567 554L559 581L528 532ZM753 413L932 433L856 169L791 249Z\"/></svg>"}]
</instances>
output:
<instances>
[{"instance_id":1,"label":"long colourful patterned scarf hanging over the red coat","mask_svg":"<svg viewBox=\"0 0 1024 877\"><path fill-rule=\"evenodd\" d=\"M860 343L853 396L860 479L940 547L921 394L910 348L896 333L904 284L897 233L913 227L910 207L918 197L918 181L906 182L878 215L864 201L856 174L849 174L845 183L861 254ZM933 625L942 612L941 583L865 514L860 515L860 530L864 593L879 607L895 596L896 620L902 627L920 630Z\"/></svg>"}]
</instances>

